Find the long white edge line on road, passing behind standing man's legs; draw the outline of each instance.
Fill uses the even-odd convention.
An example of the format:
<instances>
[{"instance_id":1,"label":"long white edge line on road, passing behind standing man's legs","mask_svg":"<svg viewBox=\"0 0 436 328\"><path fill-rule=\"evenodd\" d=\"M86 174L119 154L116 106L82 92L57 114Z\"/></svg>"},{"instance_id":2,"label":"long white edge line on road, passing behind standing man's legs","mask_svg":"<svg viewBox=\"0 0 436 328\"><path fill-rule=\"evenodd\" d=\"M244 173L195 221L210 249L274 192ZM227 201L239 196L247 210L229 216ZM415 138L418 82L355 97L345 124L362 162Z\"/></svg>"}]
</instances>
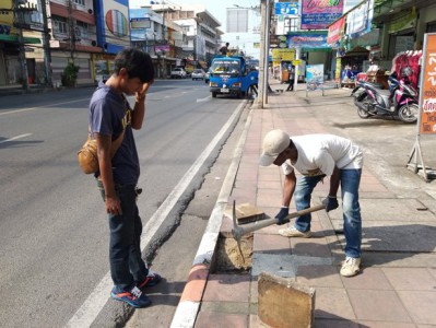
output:
<instances>
[{"instance_id":1,"label":"long white edge line on road, passing behind standing man's legs","mask_svg":"<svg viewBox=\"0 0 436 328\"><path fill-rule=\"evenodd\" d=\"M232 124L239 117L240 112L245 106L245 102L241 103L233 115L228 118L226 124L220 130L220 132L213 138L200 156L196 160L192 166L186 172L186 174L178 181L177 186L166 197L162 206L153 213L149 222L143 227L141 236L141 253L145 249L145 246L150 243L154 234L161 227L166 216L177 203L186 188L189 186L200 167L203 165L205 160L209 157L213 149L216 147L219 141L223 138L224 133L231 128ZM95 318L98 316L102 308L105 306L110 289L113 288L113 281L110 279L110 272L107 272L103 280L97 284L95 290L87 296L82 306L75 312L72 318L67 323L66 327L90 327Z\"/></svg>"}]
</instances>

